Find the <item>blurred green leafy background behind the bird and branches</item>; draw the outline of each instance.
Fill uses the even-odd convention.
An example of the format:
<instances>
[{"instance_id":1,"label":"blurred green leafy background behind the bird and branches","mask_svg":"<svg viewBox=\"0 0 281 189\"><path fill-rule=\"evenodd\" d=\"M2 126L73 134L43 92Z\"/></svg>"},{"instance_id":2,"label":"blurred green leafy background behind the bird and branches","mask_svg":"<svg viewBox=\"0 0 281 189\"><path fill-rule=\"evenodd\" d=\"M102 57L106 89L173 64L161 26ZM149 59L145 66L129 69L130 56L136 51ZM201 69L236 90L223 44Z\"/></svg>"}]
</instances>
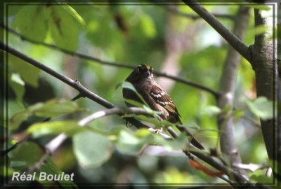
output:
<instances>
[{"instance_id":1,"label":"blurred green leafy background behind the bird and branches","mask_svg":"<svg viewBox=\"0 0 281 189\"><path fill-rule=\"evenodd\" d=\"M239 6L207 5L211 13L235 15ZM176 6L183 13L195 15L187 6ZM267 10L263 10L266 12ZM233 20L221 18L228 29ZM202 19L185 18L171 13L165 6L146 4L30 4L9 5L7 24L23 36L38 43L52 43L65 50L81 52L112 62L136 66L150 64L163 70L169 48L168 34L183 35L187 43L176 49L179 54L174 69L178 76L218 90L228 43ZM170 30L169 30L170 29ZM254 43L254 19L247 29L245 43ZM77 78L89 90L119 107L125 107L122 90L116 89L131 73L130 69L107 66L79 59L60 50L23 41L7 33L8 45L37 59L55 71ZM169 73L171 70L164 70ZM218 148L216 107L211 94L182 83L167 88L181 113L183 125L197 132L207 148ZM50 174L74 172L74 183L224 183L191 167L180 151L181 141L164 141L145 130L126 127L118 116L95 120L87 127L77 122L104 108L89 99L70 102L77 92L47 73L8 56L8 146L22 133L28 141L9 153L8 175L23 171L42 155L39 147L55 134L65 132L67 141L55 151L39 171ZM254 71L249 63L240 62L235 87L235 137L244 163L267 161L259 117L268 118L266 99L255 99ZM265 114L265 115L264 115ZM40 123L44 118L53 118ZM20 133L20 134L19 134ZM18 137L18 138L17 138ZM143 151L143 146L150 146ZM163 147L161 147L163 146ZM251 173L258 178L263 172ZM256 176L256 177L255 177ZM71 184L74 184L71 183Z\"/></svg>"}]
</instances>

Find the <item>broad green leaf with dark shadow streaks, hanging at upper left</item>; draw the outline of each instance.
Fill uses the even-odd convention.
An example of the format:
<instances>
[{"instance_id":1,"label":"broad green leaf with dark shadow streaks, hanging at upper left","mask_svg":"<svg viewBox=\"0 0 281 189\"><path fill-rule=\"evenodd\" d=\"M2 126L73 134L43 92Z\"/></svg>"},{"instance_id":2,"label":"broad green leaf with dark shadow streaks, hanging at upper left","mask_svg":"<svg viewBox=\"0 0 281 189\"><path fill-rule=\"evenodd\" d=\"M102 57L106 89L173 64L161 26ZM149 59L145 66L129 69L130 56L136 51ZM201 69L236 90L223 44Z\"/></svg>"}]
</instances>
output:
<instances>
[{"instance_id":1,"label":"broad green leaf with dark shadow streaks, hanging at upper left","mask_svg":"<svg viewBox=\"0 0 281 189\"><path fill-rule=\"evenodd\" d=\"M72 15L61 6L50 6L51 36L58 47L75 51L78 48L78 26Z\"/></svg>"}]
</instances>

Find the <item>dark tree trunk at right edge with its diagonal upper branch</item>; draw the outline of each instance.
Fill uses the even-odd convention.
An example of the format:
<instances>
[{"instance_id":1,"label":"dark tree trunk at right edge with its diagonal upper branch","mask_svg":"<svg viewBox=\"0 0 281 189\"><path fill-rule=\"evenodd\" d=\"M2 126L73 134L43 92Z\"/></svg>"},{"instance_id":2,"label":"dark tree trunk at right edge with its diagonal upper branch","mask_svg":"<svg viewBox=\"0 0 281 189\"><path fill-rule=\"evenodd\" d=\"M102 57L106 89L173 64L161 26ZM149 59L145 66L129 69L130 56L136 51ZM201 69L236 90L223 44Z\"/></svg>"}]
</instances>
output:
<instances>
[{"instance_id":1,"label":"dark tree trunk at right edge with its diagonal upper branch","mask_svg":"<svg viewBox=\"0 0 281 189\"><path fill-rule=\"evenodd\" d=\"M256 35L254 45L249 48L237 36L232 34L221 22L219 22L214 15L211 15L200 3L195 0L182 0L186 5L190 6L198 15L206 20L211 27L213 27L228 43L237 50L253 67L256 73L256 92L258 97L267 97L270 100L281 102L281 94L276 96L277 89L280 89L281 81L278 78L277 59L275 57L276 44L274 40L270 40L270 32L266 31L264 34ZM266 19L261 18L260 10L254 10L255 26L266 25ZM275 11L275 4L273 4L273 11ZM274 13L273 13L274 14ZM275 21L273 19L273 25ZM273 38L275 38L275 31L273 29ZM273 112L275 113L275 104L273 105ZM275 116L275 115L273 115ZM281 148L277 148L277 154L274 148L280 144L281 129L280 123L277 125L277 120L281 120L281 113L277 114L277 119L261 120L261 128L263 139L266 144L268 157L272 160L281 162ZM277 125L277 127L275 127ZM277 133L277 134L275 134ZM276 143L276 137L279 141ZM279 157L279 159L277 159ZM279 163L279 165L281 165ZM281 167L281 166L280 166Z\"/></svg>"}]
</instances>

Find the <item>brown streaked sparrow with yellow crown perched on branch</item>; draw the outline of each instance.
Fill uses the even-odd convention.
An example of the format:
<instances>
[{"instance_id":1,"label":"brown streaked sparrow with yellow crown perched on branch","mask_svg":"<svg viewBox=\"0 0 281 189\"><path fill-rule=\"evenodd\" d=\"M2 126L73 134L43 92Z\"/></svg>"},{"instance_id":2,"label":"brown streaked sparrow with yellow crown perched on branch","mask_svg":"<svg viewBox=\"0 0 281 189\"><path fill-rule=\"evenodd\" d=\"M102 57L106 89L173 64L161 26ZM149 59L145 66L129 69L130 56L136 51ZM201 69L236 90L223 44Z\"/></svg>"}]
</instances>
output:
<instances>
[{"instance_id":1,"label":"brown streaked sparrow with yellow crown perched on branch","mask_svg":"<svg viewBox=\"0 0 281 189\"><path fill-rule=\"evenodd\" d=\"M135 87L138 94L141 94L141 97L143 97L146 104L148 104L152 110L161 112L159 116L163 120L175 123L180 132L184 132L192 137L190 143L193 146L204 150L204 146L193 137L192 133L186 127L181 126L181 115L178 113L178 109L169 94L156 82L153 76L152 66L148 64L136 66L125 81ZM138 97L138 94L129 88L124 87L122 93L125 99L132 99L136 102L143 103L141 98ZM125 102L125 104L129 107L133 106L129 102Z\"/></svg>"}]
</instances>

